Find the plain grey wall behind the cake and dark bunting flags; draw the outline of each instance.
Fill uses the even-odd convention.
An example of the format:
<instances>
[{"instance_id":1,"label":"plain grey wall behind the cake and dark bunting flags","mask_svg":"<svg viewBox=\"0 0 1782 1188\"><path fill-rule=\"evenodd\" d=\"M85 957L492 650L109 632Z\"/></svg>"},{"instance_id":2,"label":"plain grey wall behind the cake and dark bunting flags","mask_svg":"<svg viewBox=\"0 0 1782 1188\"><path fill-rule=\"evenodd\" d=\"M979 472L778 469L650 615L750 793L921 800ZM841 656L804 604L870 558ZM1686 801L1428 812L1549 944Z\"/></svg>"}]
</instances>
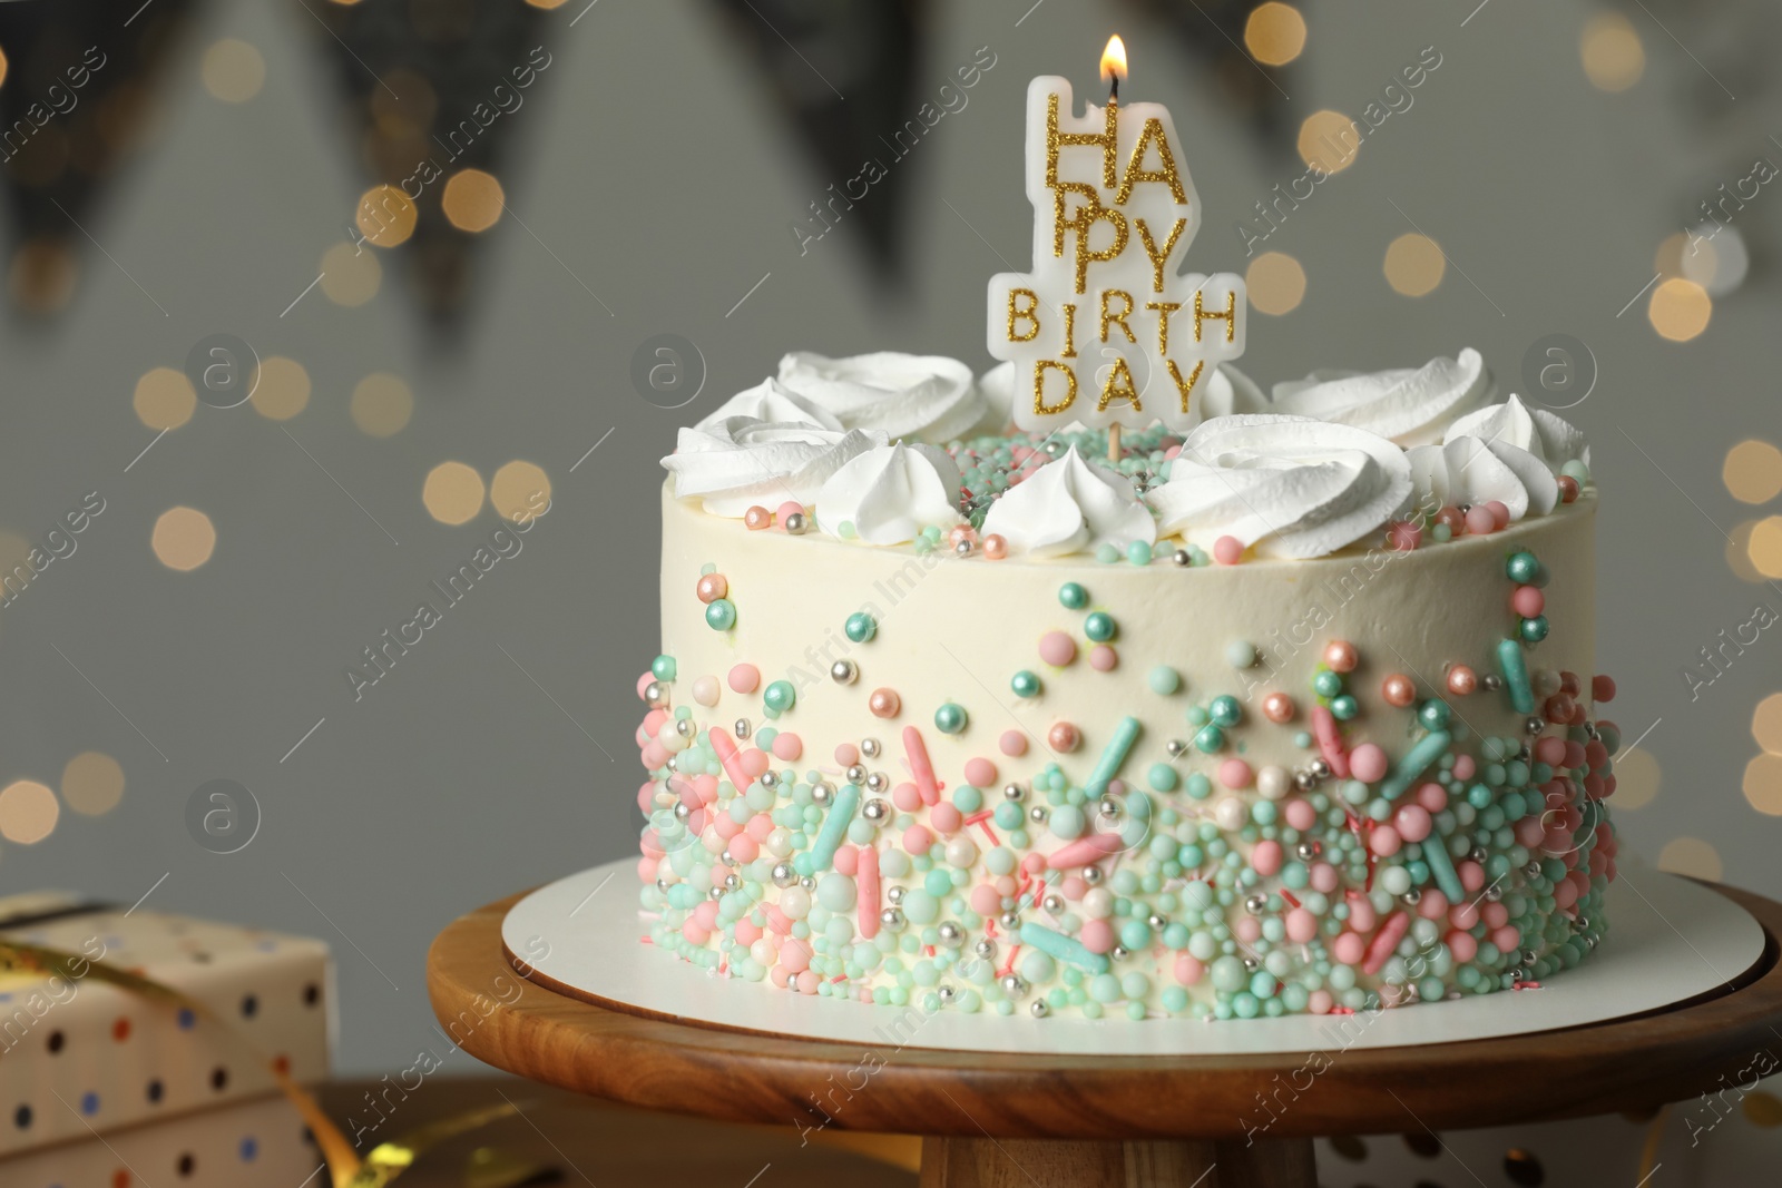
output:
<instances>
[{"instance_id":1,"label":"plain grey wall behind the cake and dark bunting flags","mask_svg":"<svg viewBox=\"0 0 1782 1188\"><path fill-rule=\"evenodd\" d=\"M1313 5L1308 53L1285 78L1294 123L1317 107L1358 114L1424 46L1443 64L1267 244L1304 264L1310 290L1297 312L1253 319L1246 367L1269 383L1470 344L1520 387L1536 338L1588 342L1600 379L1574 417L1593 436L1606 493L1602 666L1622 682L1627 737L1663 720L1645 750L1668 777L1623 816L1625 834L1654 857L1673 837L1707 839L1729 882L1782 892L1777 825L1739 794L1755 753L1750 712L1777 686L1782 638L1766 634L1698 702L1680 677L1753 600L1782 609L1773 588L1730 574L1723 531L1752 513L1720 484L1729 445L1782 433L1777 285L1755 269L1680 346L1654 335L1643 303L1616 315L1700 199L1752 157L1782 159L1766 141L1782 126L1775 94L1766 77L1737 75L1739 100L1725 100L1638 9L1647 77L1604 94L1579 69L1575 5L1493 0L1463 27L1472 7ZM896 166L920 230L912 283L893 299L839 233L800 256L786 224L836 178L784 135L763 78L711 12L604 0L561 32L527 105L497 128L513 137L503 180L517 219L490 232L481 308L447 354L417 326L392 256L371 305L340 308L317 290L280 317L364 182L335 135L331 75L303 9L208 5L175 64L159 137L87 223L110 258L86 253L86 283L59 322L0 324L0 529L36 540L86 492L107 500L78 552L0 611L0 782L53 785L82 750L114 755L128 778L109 816L64 812L48 841L0 844L0 889L128 903L166 876L153 907L335 946L344 1069L401 1067L437 1042L422 969L440 926L633 853L633 682L654 654L656 458L674 427L793 347L987 365L985 278L998 256L1021 262L1028 249L1023 87L1042 71L1089 85L1116 28L1133 48L1130 93L1169 103L1189 141L1210 212L1199 267L1240 269L1230 223L1301 171L1256 148L1196 77L1205 69L1128 7L1051 0L1018 27L1026 9L941 12L923 93L977 46L998 62L969 107ZM1727 37L1663 14L1721 61L1713 48ZM1755 37L1773 59L1755 14L1727 20L1734 48ZM246 105L198 82L198 55L219 36L266 53L266 89ZM1762 244L1778 212L1782 198L1764 192L1741 226ZM1381 276L1406 216L1452 258L1417 301ZM287 436L249 408L201 406L125 472L153 438L130 408L135 378L180 365L216 331L303 362L308 410ZM699 344L709 365L704 395L681 411L650 406L629 381L633 349L663 331ZM417 394L412 424L388 440L347 415L372 370ZM355 702L344 666L495 527L486 509L463 527L426 515L422 477L446 458L485 477L533 460L554 508L520 556ZM150 550L155 517L175 504L205 509L219 533L191 574ZM255 841L230 857L187 834L187 798L212 778L246 784L264 809Z\"/></svg>"}]
</instances>

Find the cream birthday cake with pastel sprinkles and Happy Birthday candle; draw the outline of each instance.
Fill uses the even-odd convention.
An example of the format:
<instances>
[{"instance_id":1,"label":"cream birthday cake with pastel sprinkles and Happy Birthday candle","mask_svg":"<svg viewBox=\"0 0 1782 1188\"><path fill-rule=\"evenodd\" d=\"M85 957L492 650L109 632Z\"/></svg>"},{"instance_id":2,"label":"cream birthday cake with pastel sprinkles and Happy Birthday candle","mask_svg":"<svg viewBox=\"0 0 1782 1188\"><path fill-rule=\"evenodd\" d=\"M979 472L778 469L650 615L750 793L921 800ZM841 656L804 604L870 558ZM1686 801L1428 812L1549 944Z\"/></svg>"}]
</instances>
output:
<instances>
[{"instance_id":1,"label":"cream birthday cake with pastel sprinkles and Happy Birthday candle","mask_svg":"<svg viewBox=\"0 0 1782 1188\"><path fill-rule=\"evenodd\" d=\"M1620 739L1582 435L1474 351L1265 394L1242 280L1176 267L1167 112L1037 78L1028 119L1001 365L788 354L663 460L647 940L736 994L1035 1019L1584 960Z\"/></svg>"}]
</instances>

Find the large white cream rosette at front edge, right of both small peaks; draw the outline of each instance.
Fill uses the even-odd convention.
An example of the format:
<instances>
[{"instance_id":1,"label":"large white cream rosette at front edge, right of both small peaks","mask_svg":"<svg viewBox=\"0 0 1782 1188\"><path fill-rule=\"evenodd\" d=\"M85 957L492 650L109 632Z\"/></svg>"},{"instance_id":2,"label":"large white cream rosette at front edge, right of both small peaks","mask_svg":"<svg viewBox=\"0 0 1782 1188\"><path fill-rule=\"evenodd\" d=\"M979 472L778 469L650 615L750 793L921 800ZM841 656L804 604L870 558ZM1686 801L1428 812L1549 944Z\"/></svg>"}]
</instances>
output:
<instances>
[{"instance_id":1,"label":"large white cream rosette at front edge, right of both small peaks","mask_svg":"<svg viewBox=\"0 0 1782 1188\"><path fill-rule=\"evenodd\" d=\"M1322 557L1386 525L1411 493L1404 451L1353 426L1249 413L1194 427L1146 500L1158 527L1210 547Z\"/></svg>"}]
</instances>

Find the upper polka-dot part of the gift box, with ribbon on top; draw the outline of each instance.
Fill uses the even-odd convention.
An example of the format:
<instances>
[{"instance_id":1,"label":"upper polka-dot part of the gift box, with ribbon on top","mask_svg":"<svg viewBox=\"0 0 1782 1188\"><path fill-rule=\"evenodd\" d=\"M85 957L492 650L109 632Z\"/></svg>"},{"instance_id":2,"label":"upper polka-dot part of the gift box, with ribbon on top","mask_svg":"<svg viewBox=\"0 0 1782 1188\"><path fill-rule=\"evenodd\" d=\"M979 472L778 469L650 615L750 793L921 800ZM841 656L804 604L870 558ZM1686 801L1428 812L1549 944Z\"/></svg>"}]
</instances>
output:
<instances>
[{"instance_id":1,"label":"upper polka-dot part of the gift box, with ribbon on top","mask_svg":"<svg viewBox=\"0 0 1782 1188\"><path fill-rule=\"evenodd\" d=\"M264 1097L278 1090L269 1065L328 1076L321 940L39 894L0 899L4 942L75 960L0 971L0 1156ZM109 985L105 969L176 997Z\"/></svg>"}]
</instances>

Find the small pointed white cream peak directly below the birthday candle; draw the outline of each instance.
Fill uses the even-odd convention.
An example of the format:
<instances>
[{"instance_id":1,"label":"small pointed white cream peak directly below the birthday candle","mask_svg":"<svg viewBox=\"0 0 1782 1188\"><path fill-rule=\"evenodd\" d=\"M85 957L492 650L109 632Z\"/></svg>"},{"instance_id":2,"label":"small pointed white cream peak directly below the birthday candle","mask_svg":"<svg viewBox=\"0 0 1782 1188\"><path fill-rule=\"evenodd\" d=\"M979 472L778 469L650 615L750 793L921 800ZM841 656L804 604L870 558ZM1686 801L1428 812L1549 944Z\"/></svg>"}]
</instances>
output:
<instances>
[{"instance_id":1,"label":"small pointed white cream peak directly below the birthday candle","mask_svg":"<svg viewBox=\"0 0 1782 1188\"><path fill-rule=\"evenodd\" d=\"M1083 461L1073 445L1010 486L984 517L984 534L1016 552L1094 552L1157 540L1157 522L1123 476Z\"/></svg>"}]
</instances>

